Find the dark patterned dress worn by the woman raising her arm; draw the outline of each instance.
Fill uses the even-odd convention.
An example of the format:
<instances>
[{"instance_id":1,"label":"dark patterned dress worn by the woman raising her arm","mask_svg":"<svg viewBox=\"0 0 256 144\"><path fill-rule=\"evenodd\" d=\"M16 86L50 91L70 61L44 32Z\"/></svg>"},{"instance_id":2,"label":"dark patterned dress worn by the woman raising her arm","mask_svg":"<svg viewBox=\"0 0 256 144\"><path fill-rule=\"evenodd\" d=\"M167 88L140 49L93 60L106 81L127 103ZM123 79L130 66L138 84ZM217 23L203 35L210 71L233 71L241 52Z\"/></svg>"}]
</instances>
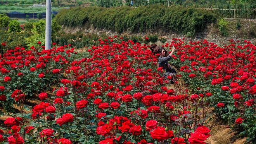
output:
<instances>
[{"instance_id":1,"label":"dark patterned dress worn by the woman raising her arm","mask_svg":"<svg viewBox=\"0 0 256 144\"><path fill-rule=\"evenodd\" d=\"M173 78L171 79L172 82L175 82L175 75L177 74L175 69L171 68L170 65L168 64L168 61L171 59L171 56L168 55L167 57L160 56L158 58L158 66L163 67L165 70L163 76L165 79L167 79L168 75L172 76Z\"/></svg>"}]
</instances>

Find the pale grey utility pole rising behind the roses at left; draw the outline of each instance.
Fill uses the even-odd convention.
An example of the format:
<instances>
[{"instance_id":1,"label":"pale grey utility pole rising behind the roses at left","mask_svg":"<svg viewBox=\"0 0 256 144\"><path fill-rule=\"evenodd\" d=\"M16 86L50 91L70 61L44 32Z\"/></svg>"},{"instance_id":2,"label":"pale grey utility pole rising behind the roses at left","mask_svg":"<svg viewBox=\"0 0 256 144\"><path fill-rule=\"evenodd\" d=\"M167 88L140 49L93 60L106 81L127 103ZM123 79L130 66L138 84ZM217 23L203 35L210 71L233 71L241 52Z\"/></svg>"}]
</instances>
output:
<instances>
[{"instance_id":1,"label":"pale grey utility pole rising behind the roses at left","mask_svg":"<svg viewBox=\"0 0 256 144\"><path fill-rule=\"evenodd\" d=\"M46 15L45 15L45 50L51 49L52 40L52 2L46 0Z\"/></svg>"}]
</instances>

